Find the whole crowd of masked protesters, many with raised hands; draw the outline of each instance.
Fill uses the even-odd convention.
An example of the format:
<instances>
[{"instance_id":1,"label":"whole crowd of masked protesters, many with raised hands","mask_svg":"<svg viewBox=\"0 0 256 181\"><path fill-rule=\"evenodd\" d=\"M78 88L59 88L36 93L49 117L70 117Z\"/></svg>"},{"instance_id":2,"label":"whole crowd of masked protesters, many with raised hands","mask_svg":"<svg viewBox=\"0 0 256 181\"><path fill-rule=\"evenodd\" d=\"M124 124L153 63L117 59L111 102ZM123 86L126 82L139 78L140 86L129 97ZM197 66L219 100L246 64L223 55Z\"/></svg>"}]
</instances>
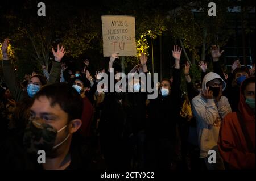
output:
<instances>
[{"instance_id":1,"label":"whole crowd of masked protesters, many with raised hands","mask_svg":"<svg viewBox=\"0 0 256 181\"><path fill-rule=\"evenodd\" d=\"M133 92L97 89L113 69L114 83L121 81L118 53L93 77L88 59L71 70L62 61L65 48L57 45L51 71L42 65L43 75L26 74L18 82L8 44L5 39L1 47L2 169L255 169L255 65L248 69L236 60L226 74L223 50L214 45L213 71L201 61L201 79L192 82L191 65L183 69L175 45L172 77L160 80L157 98L148 99L141 79L133 79ZM145 54L130 73L148 73ZM182 76L187 94L181 94ZM38 150L46 153L43 164Z\"/></svg>"}]
</instances>

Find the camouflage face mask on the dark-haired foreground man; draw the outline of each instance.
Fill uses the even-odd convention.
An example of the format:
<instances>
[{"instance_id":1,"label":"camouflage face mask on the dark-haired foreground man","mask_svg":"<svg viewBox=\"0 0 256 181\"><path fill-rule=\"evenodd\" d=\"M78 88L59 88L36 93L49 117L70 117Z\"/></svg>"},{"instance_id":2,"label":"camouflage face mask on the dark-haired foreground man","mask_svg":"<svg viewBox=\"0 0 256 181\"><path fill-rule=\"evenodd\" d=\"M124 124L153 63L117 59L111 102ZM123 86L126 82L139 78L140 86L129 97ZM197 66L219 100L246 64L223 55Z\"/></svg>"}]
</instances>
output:
<instances>
[{"instance_id":1,"label":"camouflage face mask on the dark-haired foreground man","mask_svg":"<svg viewBox=\"0 0 256 181\"><path fill-rule=\"evenodd\" d=\"M44 150L46 151L46 155L49 157L55 157L56 151L54 151L54 149L63 144L63 142L65 142L69 137L68 134L63 141L54 145L57 133L62 131L65 127L67 127L67 125L57 131L51 125L44 123L42 120L31 120L24 132L24 147L27 149L28 153L36 154L38 153L38 150Z\"/></svg>"}]
</instances>

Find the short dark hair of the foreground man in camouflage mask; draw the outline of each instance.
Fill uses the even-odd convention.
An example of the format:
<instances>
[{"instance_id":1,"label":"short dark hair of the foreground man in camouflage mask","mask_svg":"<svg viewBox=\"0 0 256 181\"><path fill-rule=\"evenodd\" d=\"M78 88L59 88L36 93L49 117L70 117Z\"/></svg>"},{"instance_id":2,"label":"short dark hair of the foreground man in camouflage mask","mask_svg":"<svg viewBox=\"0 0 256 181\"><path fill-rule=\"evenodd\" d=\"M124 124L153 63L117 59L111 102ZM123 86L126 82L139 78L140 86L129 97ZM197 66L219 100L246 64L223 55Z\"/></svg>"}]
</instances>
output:
<instances>
[{"instance_id":1,"label":"short dark hair of the foreground man in camouflage mask","mask_svg":"<svg viewBox=\"0 0 256 181\"><path fill-rule=\"evenodd\" d=\"M68 114L68 121L81 119L83 104L82 98L77 91L66 83L53 83L43 86L42 89L34 96L39 99L41 96L46 96L51 106L59 104L61 109Z\"/></svg>"}]
</instances>

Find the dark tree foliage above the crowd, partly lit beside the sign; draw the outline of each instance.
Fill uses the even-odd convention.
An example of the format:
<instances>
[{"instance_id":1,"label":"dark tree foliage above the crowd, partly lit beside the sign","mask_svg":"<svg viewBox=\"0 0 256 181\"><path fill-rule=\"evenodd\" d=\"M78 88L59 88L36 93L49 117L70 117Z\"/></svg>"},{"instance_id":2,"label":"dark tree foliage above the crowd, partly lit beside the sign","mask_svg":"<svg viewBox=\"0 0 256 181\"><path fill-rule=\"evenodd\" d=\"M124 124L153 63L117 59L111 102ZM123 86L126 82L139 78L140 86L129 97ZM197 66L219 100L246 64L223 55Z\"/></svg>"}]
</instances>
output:
<instances>
[{"instance_id":1,"label":"dark tree foliage above the crowd, partly lit beside the sign","mask_svg":"<svg viewBox=\"0 0 256 181\"><path fill-rule=\"evenodd\" d=\"M102 55L102 27L101 15L133 15L135 16L135 31L137 42L137 57L125 57L125 67L139 63L140 54L148 54L151 38L154 40L163 32L172 36L172 40L181 39L189 59L194 60L191 66L192 81L199 79L198 61L203 54L210 53L210 46L217 44L224 46L234 33L226 28L230 20L227 7L241 6L236 1L214 1L217 5L217 16L207 15L207 1L142 1L131 0L117 3L109 0L104 5L87 5L82 3L52 1L47 5L47 16L31 16L34 14L34 3L30 0L20 3L19 11L3 11L0 7L1 20L4 20L1 39L11 37L11 45L15 52L13 57L18 67L20 77L32 71L41 71L40 64L48 66L51 63L51 48L59 43L65 46L67 57L79 58L83 54ZM114 6L113 6L114 5ZM174 12L174 7L179 11ZM249 23L246 18L248 9L243 5L241 17L245 32L249 33ZM192 10L198 12L192 13ZM204 31L207 36L203 36ZM173 42L172 42L173 43ZM204 49L202 45L205 43ZM205 52L202 53L202 50ZM1 56L1 54L0 54ZM103 61L103 57L101 60ZM92 62L93 63L93 62ZM210 66L210 65L209 65Z\"/></svg>"}]
</instances>

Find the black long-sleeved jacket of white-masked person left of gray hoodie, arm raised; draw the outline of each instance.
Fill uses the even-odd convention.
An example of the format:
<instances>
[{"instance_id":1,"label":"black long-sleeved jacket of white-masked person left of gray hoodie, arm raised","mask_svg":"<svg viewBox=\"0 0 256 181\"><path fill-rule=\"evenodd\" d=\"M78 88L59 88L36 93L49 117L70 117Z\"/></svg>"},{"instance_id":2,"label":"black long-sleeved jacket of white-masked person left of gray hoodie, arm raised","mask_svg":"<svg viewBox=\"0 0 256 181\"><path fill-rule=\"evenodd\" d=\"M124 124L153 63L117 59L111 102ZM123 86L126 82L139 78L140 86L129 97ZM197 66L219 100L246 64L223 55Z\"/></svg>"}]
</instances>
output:
<instances>
[{"instance_id":1,"label":"black long-sleeved jacket of white-masked person left of gray hoodie, arm raised","mask_svg":"<svg viewBox=\"0 0 256 181\"><path fill-rule=\"evenodd\" d=\"M157 137L174 138L180 113L180 69L174 69L171 94L150 99L147 107L148 131Z\"/></svg>"}]
</instances>

